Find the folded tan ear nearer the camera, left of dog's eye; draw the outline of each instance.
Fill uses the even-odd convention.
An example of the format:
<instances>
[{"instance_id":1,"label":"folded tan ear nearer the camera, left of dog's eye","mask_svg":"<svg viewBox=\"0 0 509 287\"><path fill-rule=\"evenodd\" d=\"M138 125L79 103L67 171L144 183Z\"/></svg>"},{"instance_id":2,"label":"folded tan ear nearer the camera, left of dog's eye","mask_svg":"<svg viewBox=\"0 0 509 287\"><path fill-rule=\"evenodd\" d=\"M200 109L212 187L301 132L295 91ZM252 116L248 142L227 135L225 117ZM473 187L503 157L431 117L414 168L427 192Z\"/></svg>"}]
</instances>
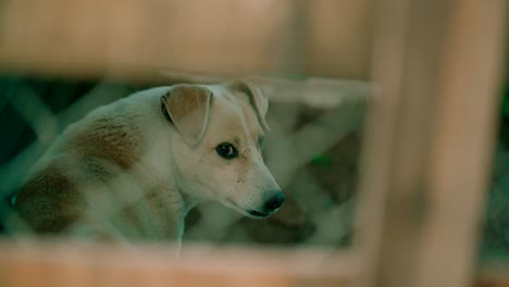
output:
<instances>
[{"instance_id":1,"label":"folded tan ear nearer the camera, left of dog's eye","mask_svg":"<svg viewBox=\"0 0 509 287\"><path fill-rule=\"evenodd\" d=\"M206 87L175 85L161 97L161 109L184 140L195 146L204 135L211 101L212 91Z\"/></svg>"}]
</instances>

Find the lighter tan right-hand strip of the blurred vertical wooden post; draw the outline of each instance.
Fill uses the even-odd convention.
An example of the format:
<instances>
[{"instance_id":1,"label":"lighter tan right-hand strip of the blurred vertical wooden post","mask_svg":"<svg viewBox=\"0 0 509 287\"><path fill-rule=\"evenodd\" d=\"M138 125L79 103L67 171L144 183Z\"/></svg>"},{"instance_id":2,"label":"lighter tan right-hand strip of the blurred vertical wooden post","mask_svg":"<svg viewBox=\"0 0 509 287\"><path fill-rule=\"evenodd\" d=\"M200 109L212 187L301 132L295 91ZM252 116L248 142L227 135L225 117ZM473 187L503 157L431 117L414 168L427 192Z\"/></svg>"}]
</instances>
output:
<instances>
[{"instance_id":1,"label":"lighter tan right-hand strip of the blurred vertical wooden post","mask_svg":"<svg viewBox=\"0 0 509 287\"><path fill-rule=\"evenodd\" d=\"M429 167L435 215L422 238L420 286L470 283L496 138L507 1L449 4Z\"/></svg>"}]
</instances>

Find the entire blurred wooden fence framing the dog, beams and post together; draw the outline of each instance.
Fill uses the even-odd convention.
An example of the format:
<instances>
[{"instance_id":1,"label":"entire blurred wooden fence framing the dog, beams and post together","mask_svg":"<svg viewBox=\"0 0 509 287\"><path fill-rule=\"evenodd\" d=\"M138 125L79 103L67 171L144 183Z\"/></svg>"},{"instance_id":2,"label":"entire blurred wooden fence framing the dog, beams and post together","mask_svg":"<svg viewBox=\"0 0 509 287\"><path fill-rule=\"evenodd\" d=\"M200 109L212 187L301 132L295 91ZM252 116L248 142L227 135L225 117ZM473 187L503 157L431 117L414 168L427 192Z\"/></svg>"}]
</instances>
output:
<instances>
[{"instance_id":1,"label":"entire blurred wooden fence framing the dog, beams and post together","mask_svg":"<svg viewBox=\"0 0 509 287\"><path fill-rule=\"evenodd\" d=\"M509 286L509 265L474 270L507 9L505 0L3 1L3 72L147 79L163 67L374 84L364 225L351 252L196 247L175 260L161 246L4 241L0 285Z\"/></svg>"}]
</instances>

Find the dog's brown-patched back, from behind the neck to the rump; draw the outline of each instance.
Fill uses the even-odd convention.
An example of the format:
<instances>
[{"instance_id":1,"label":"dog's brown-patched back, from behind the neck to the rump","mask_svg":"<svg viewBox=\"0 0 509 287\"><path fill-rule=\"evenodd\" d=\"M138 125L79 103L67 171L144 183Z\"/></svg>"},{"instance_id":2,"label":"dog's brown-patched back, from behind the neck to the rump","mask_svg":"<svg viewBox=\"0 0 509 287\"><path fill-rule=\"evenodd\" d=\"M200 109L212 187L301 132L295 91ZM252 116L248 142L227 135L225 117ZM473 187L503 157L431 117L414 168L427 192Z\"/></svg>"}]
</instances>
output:
<instances>
[{"instance_id":1,"label":"dog's brown-patched back, from behind the neck to the rump","mask_svg":"<svg viewBox=\"0 0 509 287\"><path fill-rule=\"evenodd\" d=\"M16 194L15 225L61 234L88 221L89 194L105 192L105 185L140 161L145 137L137 117L144 107L135 98L91 112L57 139Z\"/></svg>"}]
</instances>

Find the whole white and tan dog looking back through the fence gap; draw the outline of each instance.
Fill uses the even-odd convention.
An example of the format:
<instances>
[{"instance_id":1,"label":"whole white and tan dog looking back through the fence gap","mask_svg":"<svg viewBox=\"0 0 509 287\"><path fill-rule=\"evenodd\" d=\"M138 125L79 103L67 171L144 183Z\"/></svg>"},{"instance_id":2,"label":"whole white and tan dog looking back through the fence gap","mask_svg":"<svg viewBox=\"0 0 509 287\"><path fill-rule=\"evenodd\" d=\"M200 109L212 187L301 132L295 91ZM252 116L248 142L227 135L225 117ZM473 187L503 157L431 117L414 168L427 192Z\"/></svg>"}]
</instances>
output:
<instances>
[{"instance_id":1,"label":"whole white and tan dog looking back through the fence gap","mask_svg":"<svg viewBox=\"0 0 509 287\"><path fill-rule=\"evenodd\" d=\"M249 82L131 95L70 125L35 164L9 228L98 240L182 240L215 200L262 219L285 200L263 163L269 101Z\"/></svg>"}]
</instances>

